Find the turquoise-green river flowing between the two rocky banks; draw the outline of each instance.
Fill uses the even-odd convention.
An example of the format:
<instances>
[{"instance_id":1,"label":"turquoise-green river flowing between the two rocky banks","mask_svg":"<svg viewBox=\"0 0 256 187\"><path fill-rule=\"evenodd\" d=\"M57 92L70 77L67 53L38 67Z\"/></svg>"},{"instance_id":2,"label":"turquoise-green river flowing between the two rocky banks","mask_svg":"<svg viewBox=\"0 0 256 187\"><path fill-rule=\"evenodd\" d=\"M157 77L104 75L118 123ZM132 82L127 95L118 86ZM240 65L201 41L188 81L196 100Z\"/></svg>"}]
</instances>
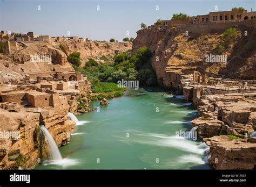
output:
<instances>
[{"instance_id":1,"label":"turquoise-green river flowing between the two rocky banks","mask_svg":"<svg viewBox=\"0 0 256 187\"><path fill-rule=\"evenodd\" d=\"M176 136L190 131L197 117L183 96L147 88L128 90L109 103L77 116L84 124L59 148L68 164L42 163L36 169L210 169L201 142Z\"/></svg>"}]
</instances>

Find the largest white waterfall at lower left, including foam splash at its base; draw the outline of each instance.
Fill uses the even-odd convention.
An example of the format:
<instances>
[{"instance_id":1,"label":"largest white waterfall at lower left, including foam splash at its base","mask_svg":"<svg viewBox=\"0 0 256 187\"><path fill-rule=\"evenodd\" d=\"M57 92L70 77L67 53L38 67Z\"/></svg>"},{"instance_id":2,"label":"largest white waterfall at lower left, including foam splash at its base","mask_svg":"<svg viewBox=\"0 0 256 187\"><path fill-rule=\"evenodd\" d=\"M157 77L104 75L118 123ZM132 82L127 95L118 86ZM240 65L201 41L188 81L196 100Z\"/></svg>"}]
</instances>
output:
<instances>
[{"instance_id":1,"label":"largest white waterfall at lower left, including foam splash at its base","mask_svg":"<svg viewBox=\"0 0 256 187\"><path fill-rule=\"evenodd\" d=\"M44 163L45 166L48 164L55 164L55 165L59 165L62 167L68 167L68 166L77 164L76 160L72 160L72 159L68 159L68 158L62 159L62 155L60 154L58 146L56 145L50 132L45 128L44 125L41 125L40 128L41 128L44 138L48 142L49 148L51 150L51 160L46 161Z\"/></svg>"}]
</instances>

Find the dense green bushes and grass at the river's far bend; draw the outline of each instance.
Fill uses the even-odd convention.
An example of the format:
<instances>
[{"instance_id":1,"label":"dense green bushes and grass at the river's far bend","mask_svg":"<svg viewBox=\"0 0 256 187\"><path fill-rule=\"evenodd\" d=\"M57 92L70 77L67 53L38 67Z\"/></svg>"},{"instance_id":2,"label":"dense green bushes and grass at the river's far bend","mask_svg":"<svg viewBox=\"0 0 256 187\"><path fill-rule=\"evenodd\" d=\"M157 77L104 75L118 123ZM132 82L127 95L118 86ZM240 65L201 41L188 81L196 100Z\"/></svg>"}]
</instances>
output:
<instances>
[{"instance_id":1,"label":"dense green bushes and grass at the river's far bend","mask_svg":"<svg viewBox=\"0 0 256 187\"><path fill-rule=\"evenodd\" d=\"M87 75L93 84L93 92L123 91L125 88L117 87L117 81L122 79L138 80L139 85L157 85L156 73L149 61L151 56L152 52L147 47L141 47L134 55L131 55L131 51L114 55L114 63L98 64L95 60L89 59L84 68L73 67Z\"/></svg>"}]
</instances>

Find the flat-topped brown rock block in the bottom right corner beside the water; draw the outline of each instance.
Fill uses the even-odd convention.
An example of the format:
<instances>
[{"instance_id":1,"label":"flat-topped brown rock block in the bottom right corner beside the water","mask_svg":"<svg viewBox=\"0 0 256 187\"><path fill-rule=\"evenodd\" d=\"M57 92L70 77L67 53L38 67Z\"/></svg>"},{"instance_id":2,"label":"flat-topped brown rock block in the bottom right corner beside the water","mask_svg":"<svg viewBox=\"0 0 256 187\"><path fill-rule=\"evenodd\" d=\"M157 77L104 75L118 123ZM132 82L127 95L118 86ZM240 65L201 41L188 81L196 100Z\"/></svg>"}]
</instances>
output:
<instances>
[{"instance_id":1,"label":"flat-topped brown rock block in the bottom right corner beside the water","mask_svg":"<svg viewBox=\"0 0 256 187\"><path fill-rule=\"evenodd\" d=\"M256 168L256 138L232 140L222 135L204 141L210 146L208 161L214 169Z\"/></svg>"}]
</instances>

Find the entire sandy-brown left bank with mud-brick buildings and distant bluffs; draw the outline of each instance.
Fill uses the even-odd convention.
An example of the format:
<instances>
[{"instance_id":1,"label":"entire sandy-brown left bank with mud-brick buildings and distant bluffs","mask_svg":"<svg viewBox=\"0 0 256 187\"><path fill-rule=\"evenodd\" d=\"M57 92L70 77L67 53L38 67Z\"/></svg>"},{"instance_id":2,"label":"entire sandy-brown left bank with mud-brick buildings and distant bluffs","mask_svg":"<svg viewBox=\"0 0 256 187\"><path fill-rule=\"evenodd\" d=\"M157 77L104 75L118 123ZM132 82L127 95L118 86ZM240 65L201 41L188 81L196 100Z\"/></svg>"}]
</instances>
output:
<instances>
[{"instance_id":1,"label":"entire sandy-brown left bank with mud-brick buildings and distant bluffs","mask_svg":"<svg viewBox=\"0 0 256 187\"><path fill-rule=\"evenodd\" d=\"M68 46L67 54L80 52L82 65L89 58L112 57L132 46L130 42L63 43ZM75 113L78 105L89 106L92 84L72 68L66 53L60 50L59 42L24 41L16 42L9 54L0 54L0 130L20 132L18 138L1 135L0 169L33 169L50 156L40 125L57 146L69 143L76 123L68 112ZM46 55L50 61L33 61L32 55L41 59Z\"/></svg>"}]
</instances>

